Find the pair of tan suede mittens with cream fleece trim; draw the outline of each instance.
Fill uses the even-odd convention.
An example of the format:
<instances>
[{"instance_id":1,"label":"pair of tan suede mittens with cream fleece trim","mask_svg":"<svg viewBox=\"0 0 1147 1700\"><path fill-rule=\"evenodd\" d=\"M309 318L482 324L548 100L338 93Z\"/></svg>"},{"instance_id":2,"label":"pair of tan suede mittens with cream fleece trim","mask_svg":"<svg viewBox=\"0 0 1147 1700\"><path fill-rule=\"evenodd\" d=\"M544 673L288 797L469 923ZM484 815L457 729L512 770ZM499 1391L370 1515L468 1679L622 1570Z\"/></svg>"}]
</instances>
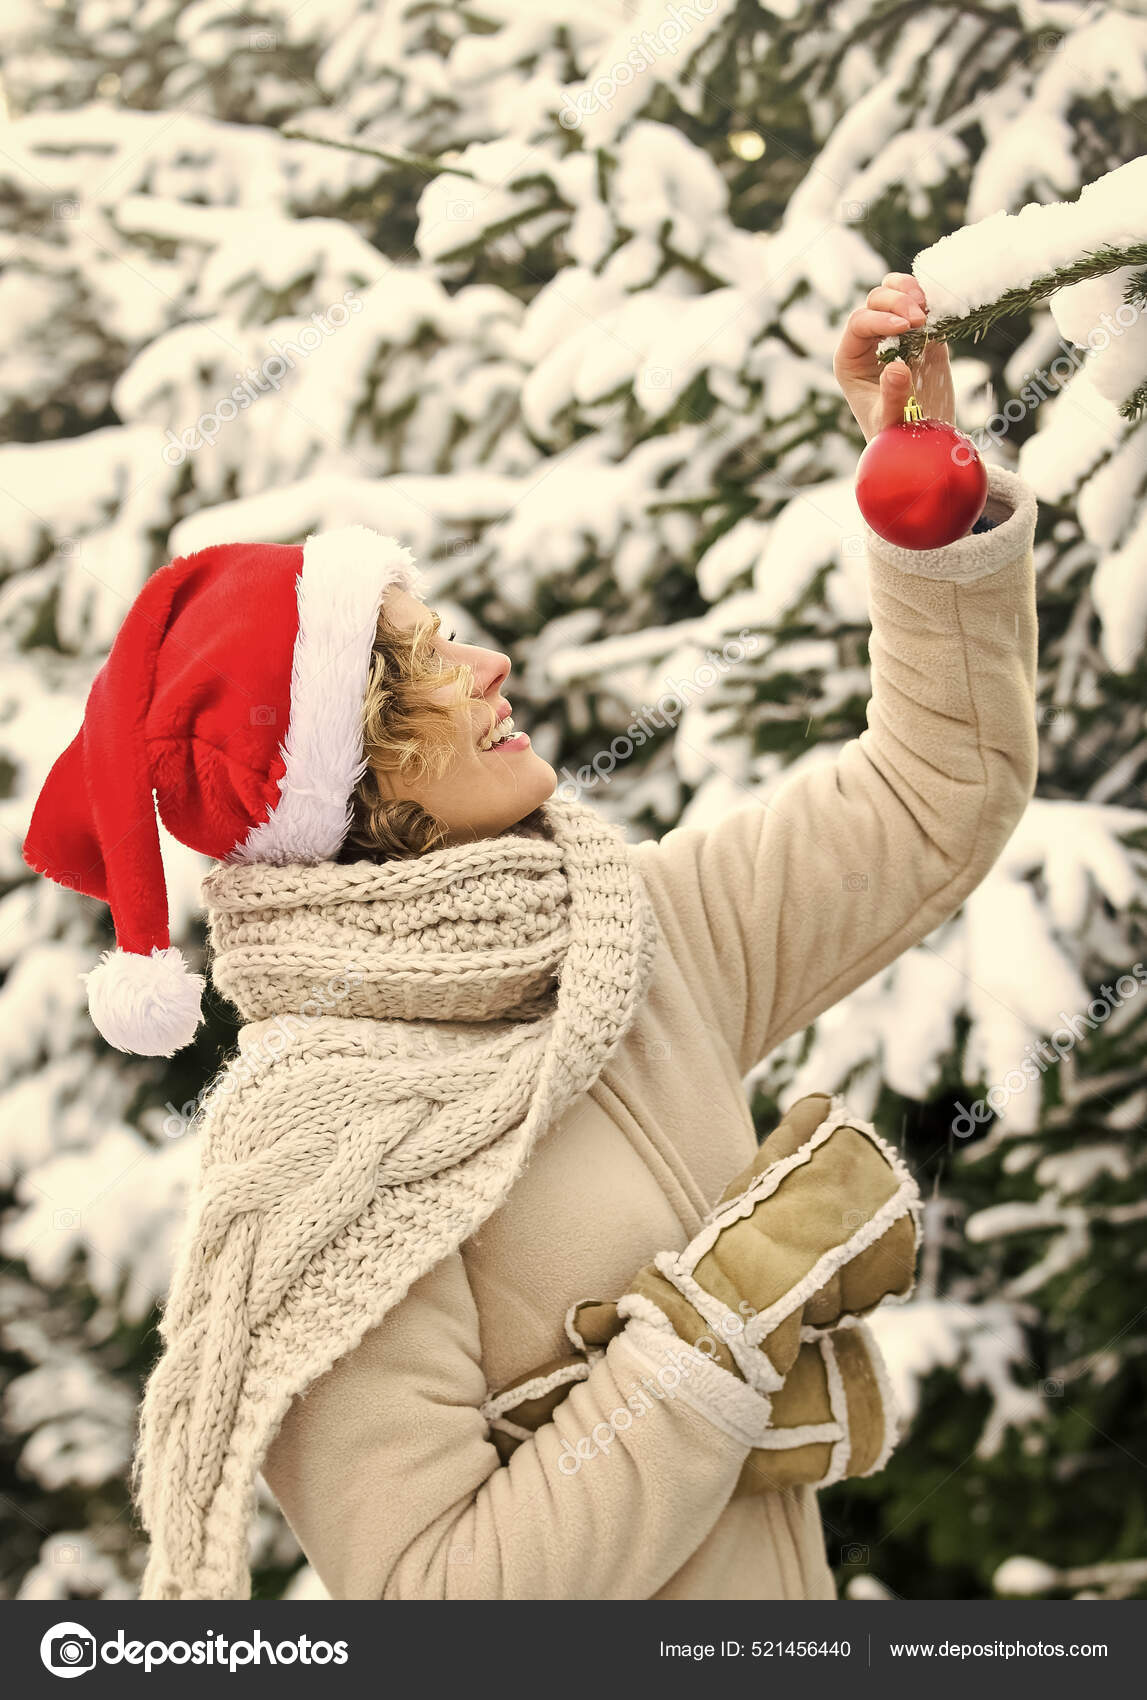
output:
<instances>
[{"instance_id":1,"label":"pair of tan suede mittens with cream fleece trim","mask_svg":"<svg viewBox=\"0 0 1147 1700\"><path fill-rule=\"evenodd\" d=\"M901 1158L839 1098L802 1098L761 1142L702 1231L646 1265L617 1302L566 1318L576 1357L518 1377L483 1408L500 1455L547 1421L622 1329L671 1331L761 1397L768 1425L734 1498L882 1469L896 1409L863 1316L907 1297L919 1192Z\"/></svg>"}]
</instances>

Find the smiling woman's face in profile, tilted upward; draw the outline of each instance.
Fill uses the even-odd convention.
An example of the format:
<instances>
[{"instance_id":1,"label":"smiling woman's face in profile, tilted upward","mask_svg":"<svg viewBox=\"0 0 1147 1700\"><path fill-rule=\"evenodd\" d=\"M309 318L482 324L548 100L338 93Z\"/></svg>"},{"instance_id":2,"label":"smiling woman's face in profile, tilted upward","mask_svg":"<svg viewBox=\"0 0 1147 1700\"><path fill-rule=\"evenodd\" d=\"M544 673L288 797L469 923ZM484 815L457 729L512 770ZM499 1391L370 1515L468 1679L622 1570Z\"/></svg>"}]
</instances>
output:
<instances>
[{"instance_id":1,"label":"smiling woman's face in profile, tilted upward","mask_svg":"<svg viewBox=\"0 0 1147 1700\"><path fill-rule=\"evenodd\" d=\"M398 631L425 624L428 612L423 602L398 586L386 592L384 609ZM489 734L489 709L496 711L498 721L510 714L510 702L501 694L510 658L496 649L455 643L445 632L435 636L433 648L444 661L469 666L474 675L474 695L459 717L455 758L438 779L399 779L382 770L379 789L394 801L410 797L421 804L447 828L447 843L493 838L545 802L554 794L557 775L523 731L496 748L481 748ZM438 694L438 700L450 700L450 687ZM494 738L503 729L496 726Z\"/></svg>"}]
</instances>

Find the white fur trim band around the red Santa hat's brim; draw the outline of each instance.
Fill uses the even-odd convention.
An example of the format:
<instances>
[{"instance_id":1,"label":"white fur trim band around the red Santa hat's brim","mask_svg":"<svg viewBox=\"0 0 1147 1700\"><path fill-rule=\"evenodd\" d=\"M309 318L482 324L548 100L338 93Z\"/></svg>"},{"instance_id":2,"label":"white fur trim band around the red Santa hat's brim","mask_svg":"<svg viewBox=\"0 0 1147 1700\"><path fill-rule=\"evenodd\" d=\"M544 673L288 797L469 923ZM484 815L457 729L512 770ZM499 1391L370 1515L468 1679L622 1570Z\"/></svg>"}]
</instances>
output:
<instances>
[{"instance_id":1,"label":"white fur trim band around the red Santa hat's brim","mask_svg":"<svg viewBox=\"0 0 1147 1700\"><path fill-rule=\"evenodd\" d=\"M362 702L379 609L391 585L413 595L427 588L410 549L394 537L365 525L308 537L280 797L228 860L282 865L338 855L362 779Z\"/></svg>"}]
</instances>

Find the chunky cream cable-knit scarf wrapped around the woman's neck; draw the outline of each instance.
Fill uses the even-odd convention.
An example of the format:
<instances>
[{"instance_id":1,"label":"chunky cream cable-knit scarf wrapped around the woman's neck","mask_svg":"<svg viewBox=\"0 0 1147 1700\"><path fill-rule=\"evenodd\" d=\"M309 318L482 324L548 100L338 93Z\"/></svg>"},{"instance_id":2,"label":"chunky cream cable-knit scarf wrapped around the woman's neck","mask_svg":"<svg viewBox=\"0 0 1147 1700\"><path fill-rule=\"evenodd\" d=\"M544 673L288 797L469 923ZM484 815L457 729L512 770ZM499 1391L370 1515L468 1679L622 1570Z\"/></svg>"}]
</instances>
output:
<instances>
[{"instance_id":1,"label":"chunky cream cable-knit scarf wrapped around the woman's neck","mask_svg":"<svg viewBox=\"0 0 1147 1700\"><path fill-rule=\"evenodd\" d=\"M535 821L204 881L212 978L246 1025L143 1401L143 1598L250 1595L255 1477L291 1401L498 1209L625 1034L656 944L641 876L593 809Z\"/></svg>"}]
</instances>

